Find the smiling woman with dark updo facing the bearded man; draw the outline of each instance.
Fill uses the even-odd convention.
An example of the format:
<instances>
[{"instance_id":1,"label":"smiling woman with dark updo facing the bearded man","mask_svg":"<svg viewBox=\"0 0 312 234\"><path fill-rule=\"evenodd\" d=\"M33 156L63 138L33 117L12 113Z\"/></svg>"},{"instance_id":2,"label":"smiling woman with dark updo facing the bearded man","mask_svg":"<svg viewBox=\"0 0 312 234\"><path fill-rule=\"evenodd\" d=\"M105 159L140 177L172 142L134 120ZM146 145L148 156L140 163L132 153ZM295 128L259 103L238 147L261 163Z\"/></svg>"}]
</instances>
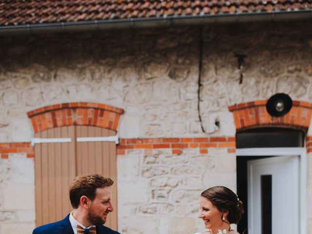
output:
<instances>
[{"instance_id":1,"label":"smiling woman with dark updo facing the bearded man","mask_svg":"<svg viewBox=\"0 0 312 234\"><path fill-rule=\"evenodd\" d=\"M201 193L199 218L208 229L202 234L238 234L230 224L237 224L243 213L243 203L227 187L215 186Z\"/></svg>"}]
</instances>

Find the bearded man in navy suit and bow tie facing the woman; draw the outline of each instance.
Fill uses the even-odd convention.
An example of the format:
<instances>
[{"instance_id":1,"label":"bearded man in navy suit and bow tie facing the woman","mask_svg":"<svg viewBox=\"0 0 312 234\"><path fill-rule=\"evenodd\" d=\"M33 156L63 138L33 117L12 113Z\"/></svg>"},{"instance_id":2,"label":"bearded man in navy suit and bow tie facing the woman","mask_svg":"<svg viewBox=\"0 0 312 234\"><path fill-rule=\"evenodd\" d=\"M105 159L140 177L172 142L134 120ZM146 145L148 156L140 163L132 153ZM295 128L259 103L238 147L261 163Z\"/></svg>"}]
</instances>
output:
<instances>
[{"instance_id":1,"label":"bearded man in navy suit and bow tie facing the woman","mask_svg":"<svg viewBox=\"0 0 312 234\"><path fill-rule=\"evenodd\" d=\"M103 226L113 211L113 180L98 174L78 176L69 189L74 208L63 220L35 228L33 234L119 234Z\"/></svg>"}]
</instances>

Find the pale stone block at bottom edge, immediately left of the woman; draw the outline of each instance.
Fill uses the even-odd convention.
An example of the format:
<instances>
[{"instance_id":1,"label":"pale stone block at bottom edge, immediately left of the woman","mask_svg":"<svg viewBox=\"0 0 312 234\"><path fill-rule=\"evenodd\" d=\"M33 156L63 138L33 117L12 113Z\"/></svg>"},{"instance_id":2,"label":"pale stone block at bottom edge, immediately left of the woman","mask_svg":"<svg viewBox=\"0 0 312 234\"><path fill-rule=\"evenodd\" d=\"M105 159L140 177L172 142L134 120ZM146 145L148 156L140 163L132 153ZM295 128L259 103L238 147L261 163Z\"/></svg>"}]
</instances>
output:
<instances>
[{"instance_id":1,"label":"pale stone block at bottom edge, immediately left of the woman","mask_svg":"<svg viewBox=\"0 0 312 234\"><path fill-rule=\"evenodd\" d=\"M193 234L196 231L194 218L173 217L171 221L171 234Z\"/></svg>"}]
</instances>

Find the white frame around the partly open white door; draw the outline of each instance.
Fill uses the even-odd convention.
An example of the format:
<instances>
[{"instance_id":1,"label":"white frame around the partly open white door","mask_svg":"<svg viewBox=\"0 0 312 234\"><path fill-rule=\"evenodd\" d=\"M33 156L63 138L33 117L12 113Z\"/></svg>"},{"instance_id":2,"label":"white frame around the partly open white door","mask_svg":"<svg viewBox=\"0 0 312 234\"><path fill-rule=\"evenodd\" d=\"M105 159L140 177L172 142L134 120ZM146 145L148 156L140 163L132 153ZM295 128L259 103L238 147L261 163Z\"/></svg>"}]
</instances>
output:
<instances>
[{"instance_id":1,"label":"white frame around the partly open white door","mask_svg":"<svg viewBox=\"0 0 312 234\"><path fill-rule=\"evenodd\" d=\"M236 156L299 156L299 229L300 234L307 234L307 149L290 148L244 148L236 149Z\"/></svg>"}]
</instances>

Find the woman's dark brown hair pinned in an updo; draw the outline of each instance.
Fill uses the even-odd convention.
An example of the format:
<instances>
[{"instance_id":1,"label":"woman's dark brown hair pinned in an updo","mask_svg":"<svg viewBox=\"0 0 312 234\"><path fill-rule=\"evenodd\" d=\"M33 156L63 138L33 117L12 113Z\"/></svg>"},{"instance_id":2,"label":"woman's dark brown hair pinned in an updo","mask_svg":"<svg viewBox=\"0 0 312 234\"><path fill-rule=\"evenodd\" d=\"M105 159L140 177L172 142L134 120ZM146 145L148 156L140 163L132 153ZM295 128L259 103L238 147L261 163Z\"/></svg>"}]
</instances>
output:
<instances>
[{"instance_id":1,"label":"woman's dark brown hair pinned in an updo","mask_svg":"<svg viewBox=\"0 0 312 234\"><path fill-rule=\"evenodd\" d=\"M215 186L201 193L203 197L213 203L213 205L221 212L229 211L227 219L229 223L237 224L244 214L243 202L238 200L238 197L231 189L224 186Z\"/></svg>"}]
</instances>

